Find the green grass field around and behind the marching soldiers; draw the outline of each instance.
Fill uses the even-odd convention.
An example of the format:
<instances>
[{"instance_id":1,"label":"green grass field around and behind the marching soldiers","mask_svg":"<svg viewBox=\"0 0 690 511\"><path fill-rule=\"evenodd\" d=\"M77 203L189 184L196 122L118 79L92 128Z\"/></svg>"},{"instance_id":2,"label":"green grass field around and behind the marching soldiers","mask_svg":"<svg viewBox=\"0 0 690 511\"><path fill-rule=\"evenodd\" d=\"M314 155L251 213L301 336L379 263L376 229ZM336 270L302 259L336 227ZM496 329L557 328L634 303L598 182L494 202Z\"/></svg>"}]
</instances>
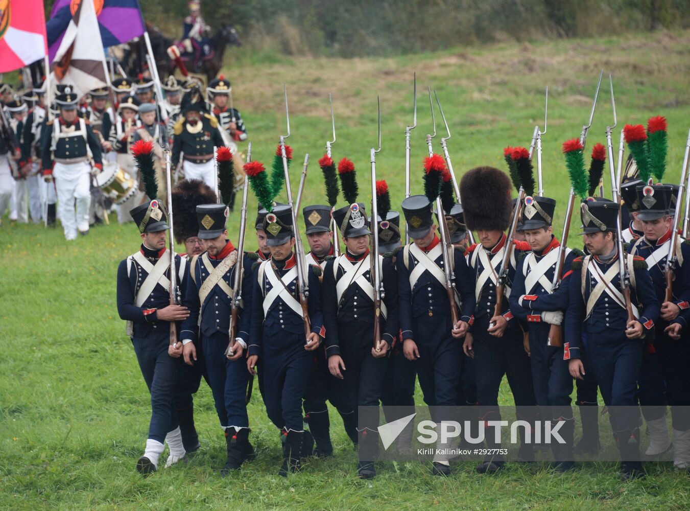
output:
<instances>
[{"instance_id":1,"label":"green grass field around and behind the marching soldiers","mask_svg":"<svg viewBox=\"0 0 690 511\"><path fill-rule=\"evenodd\" d=\"M533 126L542 122L544 87L549 85L544 186L546 195L562 206L569 184L560 146L579 135L601 68L613 75L618 128L644 123L651 115L669 119L667 181L677 182L690 128L690 32L506 43L391 59L242 57L226 76L246 119L253 158L267 167L284 131L286 81L293 133L288 142L295 149L293 186L304 153L312 157L303 204L325 201L316 160L330 136L329 92L337 123L333 157L355 162L361 199L368 203L368 155L376 142L380 95L383 148L377 170L380 179L388 180L394 207L404 193L404 128L412 120L413 72L419 93L413 193L422 190L424 136L431 130L427 85L437 90L449 119L449 149L458 177L477 165L503 168L504 146L529 144ZM590 148L605 142L604 129L611 122L609 92L602 83ZM619 134L617 129L615 148ZM253 198L248 208L253 218ZM558 224L563 216L561 207ZM233 215L233 240L238 225ZM580 243L578 231L571 231L572 244ZM247 240L254 249L252 230ZM150 398L115 305L117 264L138 245L133 224L97 227L86 238L67 243L59 228L46 231L3 219L1 510L690 508L687 474L660 464L648 465L647 479L632 483L620 482L611 463L586 465L566 475L511 464L493 477L479 476L473 463L462 463L455 465L450 479L433 478L426 465L400 463L382 466L371 482L359 481L356 454L333 416L335 456L312 461L285 480L275 475L281 455L277 434L258 393L250 405L250 421L259 456L242 472L221 479L224 440L204 383L195 399L201 454L188 465L143 479L135 461L146 441ZM417 403L422 403L419 391ZM506 385L501 403L511 403Z\"/></svg>"}]
</instances>

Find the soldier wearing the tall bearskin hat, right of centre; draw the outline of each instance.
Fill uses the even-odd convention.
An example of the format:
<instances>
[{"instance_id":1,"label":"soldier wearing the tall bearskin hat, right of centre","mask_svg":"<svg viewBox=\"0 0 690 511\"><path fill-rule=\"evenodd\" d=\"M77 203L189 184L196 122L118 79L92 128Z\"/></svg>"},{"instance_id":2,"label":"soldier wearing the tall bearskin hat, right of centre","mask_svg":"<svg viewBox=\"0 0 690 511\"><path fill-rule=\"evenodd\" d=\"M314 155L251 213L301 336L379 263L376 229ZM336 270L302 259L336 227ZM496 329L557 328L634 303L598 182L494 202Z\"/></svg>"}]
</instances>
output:
<instances>
[{"instance_id":1,"label":"soldier wearing the tall bearskin hat, right of centre","mask_svg":"<svg viewBox=\"0 0 690 511\"><path fill-rule=\"evenodd\" d=\"M517 325L507 299L515 281L515 252L529 250L529 245L524 242L513 240L512 247L507 244L508 237L504 231L511 218L510 189L508 176L493 167L473 168L462 176L460 184L464 220L467 228L476 231L479 239L479 243L467 249L469 268L475 282L473 296L477 307L474 309L471 335L465 338L464 351L467 356L474 358L477 401L480 406L486 407L482 410L484 415L481 419L484 421L500 420L498 390L504 375L508 378L515 406L535 405L531 368L524 350L522 329ZM491 204L491 209L487 209L486 204ZM500 292L498 274L508 255L510 259L507 282L504 282L504 305L502 310L496 310ZM517 416L526 421L534 419L520 416L519 411ZM489 449L500 447L491 435L486 436L486 445ZM519 454L521 460L533 460L532 447L523 438ZM489 455L483 463L477 465L477 472L493 474L503 464L503 456Z\"/></svg>"}]
</instances>

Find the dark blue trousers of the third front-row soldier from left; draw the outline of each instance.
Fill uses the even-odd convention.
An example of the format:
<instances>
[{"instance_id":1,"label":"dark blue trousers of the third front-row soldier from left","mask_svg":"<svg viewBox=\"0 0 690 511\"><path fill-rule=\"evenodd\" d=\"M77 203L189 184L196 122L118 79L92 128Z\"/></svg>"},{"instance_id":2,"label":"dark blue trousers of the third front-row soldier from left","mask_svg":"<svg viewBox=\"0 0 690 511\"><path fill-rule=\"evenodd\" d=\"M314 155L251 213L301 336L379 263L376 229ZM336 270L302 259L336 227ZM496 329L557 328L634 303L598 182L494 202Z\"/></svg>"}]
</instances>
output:
<instances>
[{"instance_id":1,"label":"dark blue trousers of the third front-row soldier from left","mask_svg":"<svg viewBox=\"0 0 690 511\"><path fill-rule=\"evenodd\" d=\"M304 431L302 397L311 373L313 354L304 349L304 333L264 331L262 346L264 404L279 429Z\"/></svg>"}]
</instances>

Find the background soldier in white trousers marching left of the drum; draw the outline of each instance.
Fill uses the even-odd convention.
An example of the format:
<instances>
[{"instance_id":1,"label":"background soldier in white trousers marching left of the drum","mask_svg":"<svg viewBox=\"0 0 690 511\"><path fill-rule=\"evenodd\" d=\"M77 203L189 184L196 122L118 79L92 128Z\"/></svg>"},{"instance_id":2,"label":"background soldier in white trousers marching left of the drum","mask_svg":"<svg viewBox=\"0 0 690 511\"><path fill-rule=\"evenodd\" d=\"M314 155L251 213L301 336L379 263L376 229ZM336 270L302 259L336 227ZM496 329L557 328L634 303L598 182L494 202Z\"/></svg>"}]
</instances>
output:
<instances>
[{"instance_id":1,"label":"background soldier in white trousers marching left of the drum","mask_svg":"<svg viewBox=\"0 0 690 511\"><path fill-rule=\"evenodd\" d=\"M88 162L87 146L95 162L94 171L97 172L103 169L101 144L88 122L77 117L77 95L68 90L58 95L55 102L60 108L60 116L46 123L47 133L43 136L41 149L43 175L49 182L55 177L65 238L75 240L77 231L82 235L88 233L92 168Z\"/></svg>"}]
</instances>

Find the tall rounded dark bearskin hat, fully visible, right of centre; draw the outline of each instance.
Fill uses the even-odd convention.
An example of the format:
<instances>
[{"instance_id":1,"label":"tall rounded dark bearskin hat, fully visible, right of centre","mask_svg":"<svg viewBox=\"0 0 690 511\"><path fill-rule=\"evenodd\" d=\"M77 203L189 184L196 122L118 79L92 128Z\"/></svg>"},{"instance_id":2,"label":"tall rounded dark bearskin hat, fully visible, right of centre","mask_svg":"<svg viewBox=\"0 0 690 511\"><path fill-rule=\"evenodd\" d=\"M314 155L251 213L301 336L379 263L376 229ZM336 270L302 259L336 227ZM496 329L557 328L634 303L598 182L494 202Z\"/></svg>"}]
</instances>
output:
<instances>
[{"instance_id":1,"label":"tall rounded dark bearskin hat, fully visible, right of centre","mask_svg":"<svg viewBox=\"0 0 690 511\"><path fill-rule=\"evenodd\" d=\"M467 229L505 231L511 221L511 180L494 167L477 167L460 180Z\"/></svg>"}]
</instances>

